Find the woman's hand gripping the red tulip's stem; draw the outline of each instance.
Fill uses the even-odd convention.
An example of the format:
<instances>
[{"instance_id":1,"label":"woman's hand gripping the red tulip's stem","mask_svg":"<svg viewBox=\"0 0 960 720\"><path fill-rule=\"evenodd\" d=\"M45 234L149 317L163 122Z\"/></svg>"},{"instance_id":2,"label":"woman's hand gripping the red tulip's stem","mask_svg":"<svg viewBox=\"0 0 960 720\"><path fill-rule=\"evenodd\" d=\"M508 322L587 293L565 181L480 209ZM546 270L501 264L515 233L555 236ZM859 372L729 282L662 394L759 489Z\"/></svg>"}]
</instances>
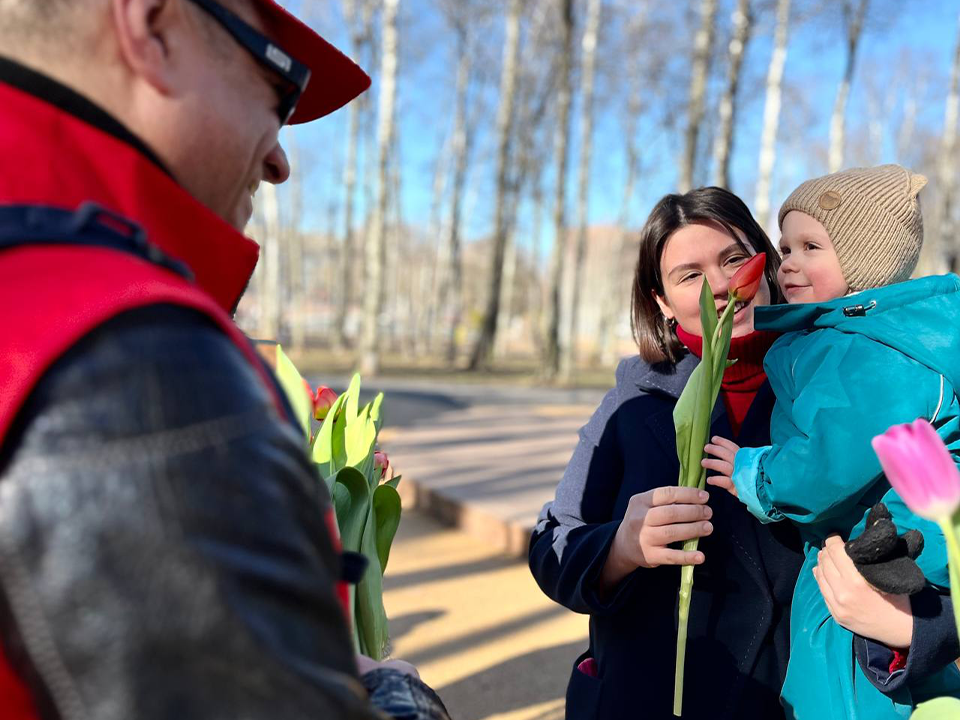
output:
<instances>
[{"instance_id":1,"label":"woman's hand gripping the red tulip's stem","mask_svg":"<svg viewBox=\"0 0 960 720\"><path fill-rule=\"evenodd\" d=\"M704 490L670 485L630 498L600 576L601 586L612 588L640 567L701 564L702 552L669 546L713 532L709 497Z\"/></svg>"}]
</instances>

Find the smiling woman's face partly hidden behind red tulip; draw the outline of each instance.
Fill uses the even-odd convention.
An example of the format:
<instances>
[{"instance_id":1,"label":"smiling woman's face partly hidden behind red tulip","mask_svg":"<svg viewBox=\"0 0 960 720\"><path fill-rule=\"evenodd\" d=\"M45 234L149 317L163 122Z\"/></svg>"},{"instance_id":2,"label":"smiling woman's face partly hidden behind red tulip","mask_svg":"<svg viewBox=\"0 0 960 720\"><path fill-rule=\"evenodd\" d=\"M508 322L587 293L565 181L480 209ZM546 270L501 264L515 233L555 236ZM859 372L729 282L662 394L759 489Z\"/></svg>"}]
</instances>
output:
<instances>
[{"instance_id":1,"label":"smiling woman's face partly hidden behind red tulip","mask_svg":"<svg viewBox=\"0 0 960 720\"><path fill-rule=\"evenodd\" d=\"M744 243L750 248L749 243ZM727 306L730 278L756 251L749 254L719 225L694 224L680 228L667 238L660 256L663 296L656 296L660 310L691 335L702 335L700 327L700 288L707 278L717 315ZM764 275L753 300L743 303L733 315L733 337L753 332L753 309L770 304L770 286Z\"/></svg>"}]
</instances>

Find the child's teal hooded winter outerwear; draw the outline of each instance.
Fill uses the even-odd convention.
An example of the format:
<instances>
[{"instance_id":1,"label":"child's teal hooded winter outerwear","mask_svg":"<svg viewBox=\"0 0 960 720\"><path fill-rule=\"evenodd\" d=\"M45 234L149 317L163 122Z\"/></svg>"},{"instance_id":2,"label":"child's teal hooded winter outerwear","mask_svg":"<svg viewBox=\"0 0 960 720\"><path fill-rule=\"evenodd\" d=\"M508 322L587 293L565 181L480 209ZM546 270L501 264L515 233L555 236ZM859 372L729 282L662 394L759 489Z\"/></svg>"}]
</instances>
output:
<instances>
[{"instance_id":1,"label":"child's teal hooded winter outerwear","mask_svg":"<svg viewBox=\"0 0 960 720\"><path fill-rule=\"evenodd\" d=\"M882 720L909 717L913 705L932 696L960 696L953 665L893 697L876 690L812 573L824 538L856 537L869 508L882 500L901 533L923 532L918 564L928 580L949 584L943 535L890 488L870 441L922 417L960 458L960 278L926 277L824 303L758 308L755 324L784 333L764 361L777 398L772 445L741 449L733 481L757 518L792 520L805 542L781 695L788 715Z\"/></svg>"}]
</instances>

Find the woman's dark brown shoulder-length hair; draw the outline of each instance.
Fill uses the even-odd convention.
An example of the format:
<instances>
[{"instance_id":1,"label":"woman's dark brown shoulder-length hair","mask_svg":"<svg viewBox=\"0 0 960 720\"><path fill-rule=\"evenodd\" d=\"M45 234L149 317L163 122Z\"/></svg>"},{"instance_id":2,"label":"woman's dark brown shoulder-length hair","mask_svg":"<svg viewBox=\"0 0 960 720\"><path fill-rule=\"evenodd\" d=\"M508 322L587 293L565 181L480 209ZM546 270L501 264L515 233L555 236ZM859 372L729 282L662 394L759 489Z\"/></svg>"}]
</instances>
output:
<instances>
[{"instance_id":1,"label":"woman's dark brown shoulder-length hair","mask_svg":"<svg viewBox=\"0 0 960 720\"><path fill-rule=\"evenodd\" d=\"M666 195L650 212L640 231L640 253L633 274L630 324L640 348L640 357L649 363L676 363L683 354L683 344L674 327L660 312L654 296L663 297L660 258L667 240L680 228L694 224L719 225L744 250L749 252L746 247L749 245L754 252L765 252L767 266L764 275L770 286L770 301L783 302L777 284L780 254L743 200L718 187L697 188L683 195Z\"/></svg>"}]
</instances>

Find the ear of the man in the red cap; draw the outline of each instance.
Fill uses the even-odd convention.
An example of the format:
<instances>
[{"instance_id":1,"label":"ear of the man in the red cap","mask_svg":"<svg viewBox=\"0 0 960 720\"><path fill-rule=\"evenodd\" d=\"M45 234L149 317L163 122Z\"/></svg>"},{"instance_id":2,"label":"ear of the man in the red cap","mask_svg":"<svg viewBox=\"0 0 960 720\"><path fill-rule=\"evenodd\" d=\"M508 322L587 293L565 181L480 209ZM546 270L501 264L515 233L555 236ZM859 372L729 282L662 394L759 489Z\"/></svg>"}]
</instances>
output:
<instances>
[{"instance_id":1,"label":"ear of the man in the red cap","mask_svg":"<svg viewBox=\"0 0 960 720\"><path fill-rule=\"evenodd\" d=\"M186 41L183 0L111 0L120 54L161 95L178 82L177 51Z\"/></svg>"}]
</instances>

